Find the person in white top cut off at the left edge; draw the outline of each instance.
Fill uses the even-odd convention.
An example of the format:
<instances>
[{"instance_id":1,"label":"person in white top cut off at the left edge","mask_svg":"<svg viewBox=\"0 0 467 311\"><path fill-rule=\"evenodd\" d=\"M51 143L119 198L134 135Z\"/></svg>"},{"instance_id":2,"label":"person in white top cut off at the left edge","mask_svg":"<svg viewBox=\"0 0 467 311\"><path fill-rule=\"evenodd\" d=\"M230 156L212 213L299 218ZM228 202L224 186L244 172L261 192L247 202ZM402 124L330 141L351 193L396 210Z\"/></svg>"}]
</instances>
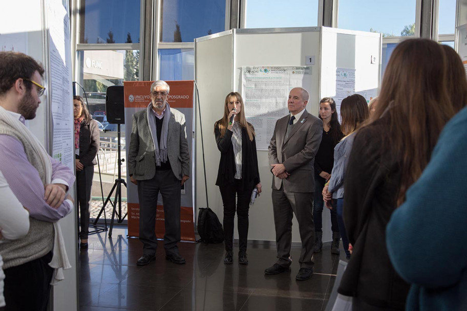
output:
<instances>
[{"instance_id":1,"label":"person in white top cut off at the left edge","mask_svg":"<svg viewBox=\"0 0 467 311\"><path fill-rule=\"evenodd\" d=\"M13 191L11 191L8 182L2 171L0 171L0 243L8 243L8 240L15 240L24 237L29 232L29 212L23 208ZM0 309L5 306L3 296L3 259L0 254Z\"/></svg>"}]
</instances>

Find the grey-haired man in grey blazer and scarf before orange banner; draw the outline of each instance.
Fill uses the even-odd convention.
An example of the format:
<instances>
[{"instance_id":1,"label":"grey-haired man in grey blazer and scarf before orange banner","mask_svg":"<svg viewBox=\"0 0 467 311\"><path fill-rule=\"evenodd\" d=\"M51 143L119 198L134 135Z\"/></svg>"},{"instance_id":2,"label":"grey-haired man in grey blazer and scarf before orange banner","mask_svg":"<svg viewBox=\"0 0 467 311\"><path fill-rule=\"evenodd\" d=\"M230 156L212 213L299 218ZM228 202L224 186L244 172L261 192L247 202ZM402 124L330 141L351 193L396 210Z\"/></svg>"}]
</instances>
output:
<instances>
[{"instance_id":1,"label":"grey-haired man in grey blazer and scarf before orange banner","mask_svg":"<svg viewBox=\"0 0 467 311\"><path fill-rule=\"evenodd\" d=\"M181 185L188 179L189 151L185 116L167 103L170 87L158 80L151 85L151 103L133 115L128 168L138 186L139 239L143 255L137 265L156 258L157 197L162 195L165 217L165 259L185 263L178 252L180 241Z\"/></svg>"}]
</instances>

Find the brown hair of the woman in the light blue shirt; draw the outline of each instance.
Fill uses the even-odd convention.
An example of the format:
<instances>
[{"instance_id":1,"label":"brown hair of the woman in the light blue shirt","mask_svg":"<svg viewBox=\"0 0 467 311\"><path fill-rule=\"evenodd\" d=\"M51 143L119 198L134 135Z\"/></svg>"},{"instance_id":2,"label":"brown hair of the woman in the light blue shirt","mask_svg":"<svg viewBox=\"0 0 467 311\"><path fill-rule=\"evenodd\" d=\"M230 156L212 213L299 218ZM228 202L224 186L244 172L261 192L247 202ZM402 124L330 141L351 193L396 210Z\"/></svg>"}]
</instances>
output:
<instances>
[{"instance_id":1,"label":"brown hair of the woman in the light blue shirt","mask_svg":"<svg viewBox=\"0 0 467 311\"><path fill-rule=\"evenodd\" d=\"M344 136L349 136L370 116L367 100L360 94L347 96L341 103L341 129Z\"/></svg>"}]
</instances>

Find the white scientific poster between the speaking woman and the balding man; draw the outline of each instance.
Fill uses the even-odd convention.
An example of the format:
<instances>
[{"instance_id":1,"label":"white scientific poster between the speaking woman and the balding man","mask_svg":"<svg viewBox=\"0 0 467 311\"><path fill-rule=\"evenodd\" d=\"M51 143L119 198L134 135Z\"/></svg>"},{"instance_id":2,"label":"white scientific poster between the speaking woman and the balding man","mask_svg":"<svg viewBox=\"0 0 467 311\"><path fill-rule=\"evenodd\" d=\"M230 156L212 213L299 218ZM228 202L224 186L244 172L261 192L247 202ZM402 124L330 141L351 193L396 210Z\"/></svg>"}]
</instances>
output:
<instances>
[{"instance_id":1,"label":"white scientific poster between the speaking woman and the balding man","mask_svg":"<svg viewBox=\"0 0 467 311\"><path fill-rule=\"evenodd\" d=\"M289 113L287 98L294 87L307 90L311 66L243 66L242 97L245 116L254 126L258 150L267 150L275 122Z\"/></svg>"}]
</instances>

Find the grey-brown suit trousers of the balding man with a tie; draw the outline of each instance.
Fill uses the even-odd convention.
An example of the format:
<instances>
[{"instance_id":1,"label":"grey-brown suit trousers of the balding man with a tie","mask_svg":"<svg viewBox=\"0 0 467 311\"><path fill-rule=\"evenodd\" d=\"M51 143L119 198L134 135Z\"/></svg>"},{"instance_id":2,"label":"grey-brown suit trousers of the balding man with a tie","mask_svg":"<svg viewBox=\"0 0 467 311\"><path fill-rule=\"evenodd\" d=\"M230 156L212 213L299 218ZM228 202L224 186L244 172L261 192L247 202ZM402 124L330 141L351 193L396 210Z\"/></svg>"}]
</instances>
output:
<instances>
[{"instance_id":1,"label":"grey-brown suit trousers of the balding man with a tie","mask_svg":"<svg viewBox=\"0 0 467 311\"><path fill-rule=\"evenodd\" d=\"M313 224L313 192L290 192L272 189L272 209L274 211L275 241L282 266L291 264L290 247L292 246L293 214L299 222L302 253L300 267L313 268L314 224Z\"/></svg>"}]
</instances>

